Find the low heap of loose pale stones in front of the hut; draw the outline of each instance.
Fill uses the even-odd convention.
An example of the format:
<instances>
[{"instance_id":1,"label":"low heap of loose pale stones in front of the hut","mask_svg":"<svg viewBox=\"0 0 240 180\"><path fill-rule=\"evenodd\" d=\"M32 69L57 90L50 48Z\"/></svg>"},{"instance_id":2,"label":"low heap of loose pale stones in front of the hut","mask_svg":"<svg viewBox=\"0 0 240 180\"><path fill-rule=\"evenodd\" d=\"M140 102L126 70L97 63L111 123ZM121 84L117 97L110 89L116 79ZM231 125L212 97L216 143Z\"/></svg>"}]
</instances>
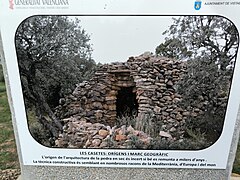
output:
<instances>
[{"instance_id":1,"label":"low heap of loose pale stones in front of the hut","mask_svg":"<svg viewBox=\"0 0 240 180\"><path fill-rule=\"evenodd\" d=\"M151 137L125 125L120 128L89 123L76 118L64 119L64 131L56 140L56 147L68 148L136 148L146 149Z\"/></svg>"}]
</instances>

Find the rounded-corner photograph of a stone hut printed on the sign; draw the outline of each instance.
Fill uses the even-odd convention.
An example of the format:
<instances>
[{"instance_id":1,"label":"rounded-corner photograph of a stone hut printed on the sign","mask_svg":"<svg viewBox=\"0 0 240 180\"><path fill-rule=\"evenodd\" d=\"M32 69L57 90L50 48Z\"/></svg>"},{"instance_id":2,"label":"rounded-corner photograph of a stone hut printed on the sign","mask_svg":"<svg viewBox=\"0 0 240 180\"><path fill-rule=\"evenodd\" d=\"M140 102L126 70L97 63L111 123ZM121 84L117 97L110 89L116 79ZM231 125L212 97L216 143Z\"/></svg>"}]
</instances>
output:
<instances>
[{"instance_id":1,"label":"rounded-corner photograph of a stone hut printed on the sign","mask_svg":"<svg viewBox=\"0 0 240 180\"><path fill-rule=\"evenodd\" d=\"M221 16L29 17L15 34L28 129L51 148L208 148L238 37Z\"/></svg>"}]
</instances>

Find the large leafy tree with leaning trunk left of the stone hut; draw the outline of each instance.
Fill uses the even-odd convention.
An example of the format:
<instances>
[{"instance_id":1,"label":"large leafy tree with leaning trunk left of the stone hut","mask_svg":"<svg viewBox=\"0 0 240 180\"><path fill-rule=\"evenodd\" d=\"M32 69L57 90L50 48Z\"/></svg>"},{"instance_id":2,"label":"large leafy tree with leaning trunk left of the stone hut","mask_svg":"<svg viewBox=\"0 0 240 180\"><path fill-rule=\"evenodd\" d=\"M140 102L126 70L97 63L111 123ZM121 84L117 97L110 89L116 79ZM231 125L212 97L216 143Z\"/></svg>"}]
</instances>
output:
<instances>
[{"instance_id":1,"label":"large leafy tree with leaning trunk left of the stone hut","mask_svg":"<svg viewBox=\"0 0 240 180\"><path fill-rule=\"evenodd\" d=\"M62 124L53 110L60 97L91 74L89 35L78 19L64 16L33 16L23 21L15 44L26 107L38 121L58 136Z\"/></svg>"}]
</instances>

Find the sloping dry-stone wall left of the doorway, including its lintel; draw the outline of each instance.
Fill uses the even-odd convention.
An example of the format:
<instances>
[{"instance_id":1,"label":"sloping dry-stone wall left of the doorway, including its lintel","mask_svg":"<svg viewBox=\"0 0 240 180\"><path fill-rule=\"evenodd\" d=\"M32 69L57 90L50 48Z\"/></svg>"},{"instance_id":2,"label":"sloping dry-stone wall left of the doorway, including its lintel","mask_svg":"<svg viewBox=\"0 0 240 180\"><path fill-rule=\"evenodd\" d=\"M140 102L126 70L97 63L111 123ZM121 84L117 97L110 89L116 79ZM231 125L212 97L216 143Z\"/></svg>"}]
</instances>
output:
<instances>
[{"instance_id":1,"label":"sloping dry-stone wall left of the doorway, including its lintel","mask_svg":"<svg viewBox=\"0 0 240 180\"><path fill-rule=\"evenodd\" d=\"M134 81L129 79L126 64L102 65L89 82L78 84L72 95L60 100L56 115L61 119L74 116L113 126L118 90L129 86L134 86Z\"/></svg>"}]
</instances>

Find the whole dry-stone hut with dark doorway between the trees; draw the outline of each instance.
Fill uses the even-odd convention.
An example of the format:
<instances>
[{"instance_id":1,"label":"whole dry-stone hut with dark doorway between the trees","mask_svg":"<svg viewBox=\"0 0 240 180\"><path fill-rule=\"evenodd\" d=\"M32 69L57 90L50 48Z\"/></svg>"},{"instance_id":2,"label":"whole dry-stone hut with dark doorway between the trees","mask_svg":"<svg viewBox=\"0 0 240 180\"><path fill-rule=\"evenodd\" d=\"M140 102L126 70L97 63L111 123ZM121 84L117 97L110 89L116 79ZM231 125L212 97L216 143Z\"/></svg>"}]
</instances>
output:
<instances>
[{"instance_id":1,"label":"whole dry-stone hut with dark doorway between the trees","mask_svg":"<svg viewBox=\"0 0 240 180\"><path fill-rule=\"evenodd\" d=\"M189 115L178 106L181 95L175 89L184 72L180 61L147 54L105 64L90 81L78 84L71 96L60 100L56 114L108 126L117 125L118 117L134 116L135 129L179 138ZM126 123L130 124L120 125Z\"/></svg>"}]
</instances>

